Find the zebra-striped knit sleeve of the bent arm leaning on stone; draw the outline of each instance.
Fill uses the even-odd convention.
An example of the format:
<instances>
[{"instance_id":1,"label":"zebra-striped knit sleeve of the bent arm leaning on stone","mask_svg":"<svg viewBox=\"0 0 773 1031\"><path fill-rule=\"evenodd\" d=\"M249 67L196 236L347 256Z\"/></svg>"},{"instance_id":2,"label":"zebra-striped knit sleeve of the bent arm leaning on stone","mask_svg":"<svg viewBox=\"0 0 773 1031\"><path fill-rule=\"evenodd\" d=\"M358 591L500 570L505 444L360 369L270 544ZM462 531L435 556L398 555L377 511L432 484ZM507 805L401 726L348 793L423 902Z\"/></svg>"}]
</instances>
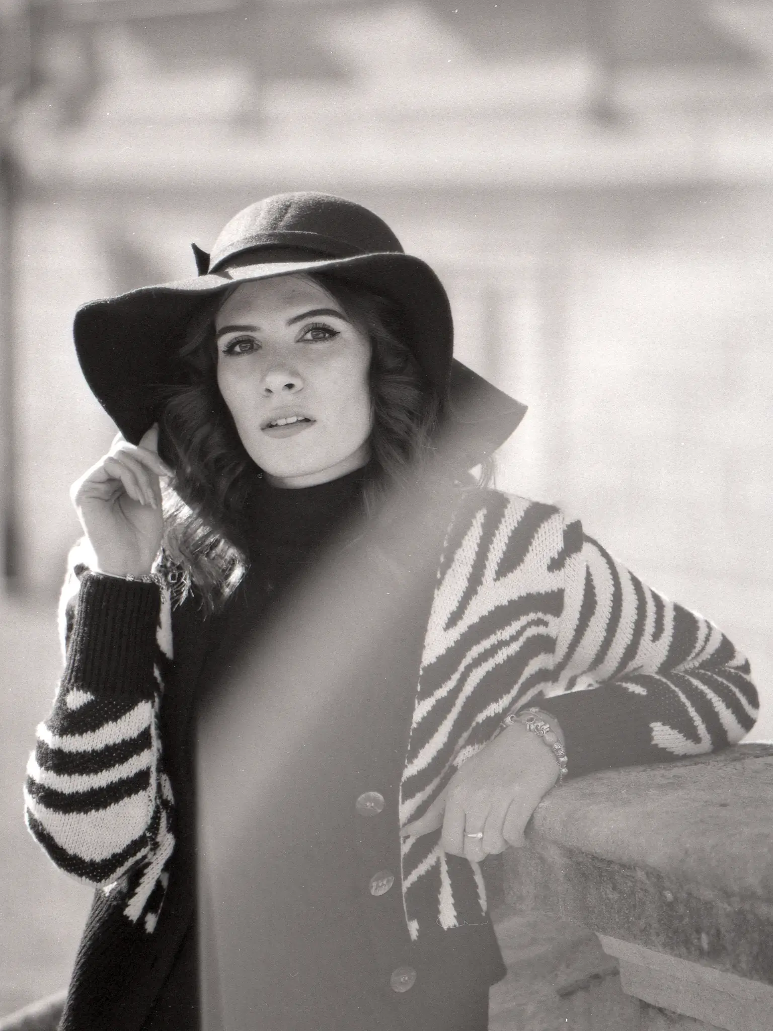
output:
<instances>
[{"instance_id":1,"label":"zebra-striped knit sleeve of the bent arm leaning on stone","mask_svg":"<svg viewBox=\"0 0 773 1031\"><path fill-rule=\"evenodd\" d=\"M739 741L759 710L749 664L712 623L647 587L578 523L565 529L556 689L544 707L572 775Z\"/></svg>"}]
</instances>

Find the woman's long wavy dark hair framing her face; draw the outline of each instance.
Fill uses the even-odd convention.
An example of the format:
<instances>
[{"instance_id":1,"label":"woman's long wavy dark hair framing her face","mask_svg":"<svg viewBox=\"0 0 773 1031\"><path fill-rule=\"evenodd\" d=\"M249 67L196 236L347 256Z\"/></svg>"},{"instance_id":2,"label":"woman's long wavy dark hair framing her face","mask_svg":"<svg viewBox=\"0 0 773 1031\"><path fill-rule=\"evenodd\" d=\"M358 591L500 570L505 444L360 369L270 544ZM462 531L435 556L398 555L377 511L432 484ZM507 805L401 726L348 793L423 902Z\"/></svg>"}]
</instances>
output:
<instances>
[{"instance_id":1,"label":"woman's long wavy dark hair framing her face","mask_svg":"<svg viewBox=\"0 0 773 1031\"><path fill-rule=\"evenodd\" d=\"M330 274L305 274L370 339L373 428L363 506L373 516L389 490L405 487L434 454L442 399L404 342L399 305ZM227 296L205 302L189 323L179 356L190 381L167 393L159 419L159 452L174 469L165 490L165 557L176 570L178 594L195 586L210 610L244 574L244 513L261 474L216 383L214 317Z\"/></svg>"}]
</instances>

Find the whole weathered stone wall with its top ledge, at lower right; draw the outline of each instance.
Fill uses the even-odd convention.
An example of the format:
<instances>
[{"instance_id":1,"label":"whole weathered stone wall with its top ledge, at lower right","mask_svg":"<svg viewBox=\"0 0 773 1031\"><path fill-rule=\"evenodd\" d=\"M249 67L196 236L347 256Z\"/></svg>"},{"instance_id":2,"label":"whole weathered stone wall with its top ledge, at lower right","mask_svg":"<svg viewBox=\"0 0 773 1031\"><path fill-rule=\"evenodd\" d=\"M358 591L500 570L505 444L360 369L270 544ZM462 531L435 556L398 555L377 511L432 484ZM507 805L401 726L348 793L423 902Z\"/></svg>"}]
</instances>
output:
<instances>
[{"instance_id":1,"label":"whole weathered stone wall with its top ledge, at lower right","mask_svg":"<svg viewBox=\"0 0 773 1031\"><path fill-rule=\"evenodd\" d=\"M493 1031L773 1027L772 789L737 745L548 795L504 855Z\"/></svg>"}]
</instances>

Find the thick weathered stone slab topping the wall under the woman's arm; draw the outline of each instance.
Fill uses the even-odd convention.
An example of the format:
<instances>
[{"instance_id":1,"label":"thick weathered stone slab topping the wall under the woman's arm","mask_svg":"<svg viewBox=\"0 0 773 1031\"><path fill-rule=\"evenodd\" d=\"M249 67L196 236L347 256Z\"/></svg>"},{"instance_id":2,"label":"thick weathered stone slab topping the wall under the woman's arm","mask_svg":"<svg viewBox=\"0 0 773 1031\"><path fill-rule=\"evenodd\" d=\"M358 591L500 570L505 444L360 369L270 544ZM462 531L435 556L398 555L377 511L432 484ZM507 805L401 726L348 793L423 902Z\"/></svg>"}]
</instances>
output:
<instances>
[{"instance_id":1,"label":"thick weathered stone slab topping the wall under the woman's arm","mask_svg":"<svg viewBox=\"0 0 773 1031\"><path fill-rule=\"evenodd\" d=\"M506 901L773 985L773 746L595 773L504 856Z\"/></svg>"}]
</instances>

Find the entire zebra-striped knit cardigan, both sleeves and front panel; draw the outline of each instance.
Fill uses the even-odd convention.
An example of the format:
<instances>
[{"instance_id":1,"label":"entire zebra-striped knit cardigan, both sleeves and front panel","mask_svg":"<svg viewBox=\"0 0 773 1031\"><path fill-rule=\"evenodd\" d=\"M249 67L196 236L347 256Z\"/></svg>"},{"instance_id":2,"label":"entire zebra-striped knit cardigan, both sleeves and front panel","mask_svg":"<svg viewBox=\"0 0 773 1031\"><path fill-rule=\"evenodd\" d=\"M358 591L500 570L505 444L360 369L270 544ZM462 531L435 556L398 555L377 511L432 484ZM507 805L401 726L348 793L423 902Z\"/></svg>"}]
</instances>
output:
<instances>
[{"instance_id":1,"label":"entire zebra-striped knit cardigan, both sleeves and front panel","mask_svg":"<svg viewBox=\"0 0 773 1031\"><path fill-rule=\"evenodd\" d=\"M67 665L26 781L27 823L52 859L105 893L121 883L126 921L150 935L175 843L158 729L170 602L159 593L90 573L74 555ZM90 619L101 623L99 646ZM724 747L758 707L748 663L727 637L643 585L578 522L464 492L439 557L400 824L427 809L508 710L530 703L561 723L570 775ZM431 925L479 923L486 907L479 870L451 873L439 832L403 841L402 889L413 940Z\"/></svg>"}]
</instances>

